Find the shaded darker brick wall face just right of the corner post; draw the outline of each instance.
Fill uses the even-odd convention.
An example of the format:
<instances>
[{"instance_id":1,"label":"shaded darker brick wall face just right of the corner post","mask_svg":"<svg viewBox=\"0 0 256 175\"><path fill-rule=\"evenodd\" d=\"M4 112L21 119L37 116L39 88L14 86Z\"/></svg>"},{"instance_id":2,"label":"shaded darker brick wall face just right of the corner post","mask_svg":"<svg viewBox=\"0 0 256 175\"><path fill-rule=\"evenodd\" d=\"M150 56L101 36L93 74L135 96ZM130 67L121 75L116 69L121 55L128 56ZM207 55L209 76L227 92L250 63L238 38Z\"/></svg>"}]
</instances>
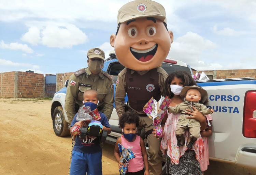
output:
<instances>
[{"instance_id":1,"label":"shaded darker brick wall face just right of the corner post","mask_svg":"<svg viewBox=\"0 0 256 175\"><path fill-rule=\"evenodd\" d=\"M43 74L17 72L17 98L43 98L44 85Z\"/></svg>"}]
</instances>

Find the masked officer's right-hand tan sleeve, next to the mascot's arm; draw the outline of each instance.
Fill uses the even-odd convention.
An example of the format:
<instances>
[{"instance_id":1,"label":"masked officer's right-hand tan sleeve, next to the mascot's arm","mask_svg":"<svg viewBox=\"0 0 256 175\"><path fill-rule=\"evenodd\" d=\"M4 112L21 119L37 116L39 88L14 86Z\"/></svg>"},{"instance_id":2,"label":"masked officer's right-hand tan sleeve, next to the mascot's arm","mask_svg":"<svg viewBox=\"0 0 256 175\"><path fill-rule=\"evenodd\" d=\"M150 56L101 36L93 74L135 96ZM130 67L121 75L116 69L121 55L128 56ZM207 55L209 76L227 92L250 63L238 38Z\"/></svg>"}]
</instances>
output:
<instances>
[{"instance_id":1,"label":"masked officer's right-hand tan sleeve, next to the mascot's arm","mask_svg":"<svg viewBox=\"0 0 256 175\"><path fill-rule=\"evenodd\" d=\"M104 98L104 104L103 104L103 113L106 115L106 117L108 118L108 120L110 119L110 116L112 114L113 111L113 103L114 103L114 88L113 88L113 81L110 81L108 79L108 84L107 84L107 88L108 88L108 94L106 94L105 98Z\"/></svg>"}]
</instances>

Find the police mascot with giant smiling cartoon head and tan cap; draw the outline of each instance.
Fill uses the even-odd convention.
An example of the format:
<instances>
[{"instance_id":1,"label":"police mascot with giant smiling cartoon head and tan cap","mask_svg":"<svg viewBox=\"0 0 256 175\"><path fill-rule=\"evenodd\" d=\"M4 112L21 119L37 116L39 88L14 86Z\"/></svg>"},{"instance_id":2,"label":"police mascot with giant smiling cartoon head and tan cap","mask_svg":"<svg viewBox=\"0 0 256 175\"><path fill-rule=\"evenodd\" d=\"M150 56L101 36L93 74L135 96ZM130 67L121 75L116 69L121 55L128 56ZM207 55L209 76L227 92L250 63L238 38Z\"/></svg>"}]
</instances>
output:
<instances>
[{"instance_id":1,"label":"police mascot with giant smiling cartoon head and tan cap","mask_svg":"<svg viewBox=\"0 0 256 175\"><path fill-rule=\"evenodd\" d=\"M125 110L139 114L149 145L150 175L160 175L160 140L153 136L155 126L143 107L151 97L155 100L161 97L168 74L160 66L169 53L173 33L167 29L164 7L151 0L126 3L119 9L117 21L117 32L110 36L110 44L118 61L126 68L116 81L116 112L119 117ZM126 93L128 106L125 105Z\"/></svg>"}]
</instances>

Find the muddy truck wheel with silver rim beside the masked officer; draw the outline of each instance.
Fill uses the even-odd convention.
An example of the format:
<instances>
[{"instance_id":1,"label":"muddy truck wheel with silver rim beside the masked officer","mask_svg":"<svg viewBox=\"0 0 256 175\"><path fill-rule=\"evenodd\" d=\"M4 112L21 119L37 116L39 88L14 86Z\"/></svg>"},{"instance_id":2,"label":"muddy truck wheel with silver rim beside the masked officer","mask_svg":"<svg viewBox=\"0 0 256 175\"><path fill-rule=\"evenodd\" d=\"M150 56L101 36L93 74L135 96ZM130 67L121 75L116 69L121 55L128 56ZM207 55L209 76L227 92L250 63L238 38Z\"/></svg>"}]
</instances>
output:
<instances>
[{"instance_id":1,"label":"muddy truck wheel with silver rim beside the masked officer","mask_svg":"<svg viewBox=\"0 0 256 175\"><path fill-rule=\"evenodd\" d=\"M65 120L63 109L58 106L53 112L53 130L55 134L59 137L64 137L70 135L68 130L68 123Z\"/></svg>"}]
</instances>

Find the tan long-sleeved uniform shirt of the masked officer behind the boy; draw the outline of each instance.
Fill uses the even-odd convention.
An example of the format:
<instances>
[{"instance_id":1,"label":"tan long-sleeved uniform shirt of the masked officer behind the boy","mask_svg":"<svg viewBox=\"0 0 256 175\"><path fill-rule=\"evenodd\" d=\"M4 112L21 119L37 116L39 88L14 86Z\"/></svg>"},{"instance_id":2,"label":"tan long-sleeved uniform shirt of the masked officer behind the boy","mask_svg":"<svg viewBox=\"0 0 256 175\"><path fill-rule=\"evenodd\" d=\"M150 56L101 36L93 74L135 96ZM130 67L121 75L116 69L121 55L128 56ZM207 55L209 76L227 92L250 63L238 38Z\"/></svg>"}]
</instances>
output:
<instances>
[{"instance_id":1,"label":"tan long-sleeved uniform shirt of the masked officer behind the boy","mask_svg":"<svg viewBox=\"0 0 256 175\"><path fill-rule=\"evenodd\" d=\"M84 100L83 93L89 89L96 90L99 93L98 106L103 105L102 112L106 115L108 120L110 119L114 102L112 77L104 71L94 75L87 67L76 71L69 78L65 100L65 110L69 122L72 122L75 116L75 103L81 107Z\"/></svg>"}]
</instances>

